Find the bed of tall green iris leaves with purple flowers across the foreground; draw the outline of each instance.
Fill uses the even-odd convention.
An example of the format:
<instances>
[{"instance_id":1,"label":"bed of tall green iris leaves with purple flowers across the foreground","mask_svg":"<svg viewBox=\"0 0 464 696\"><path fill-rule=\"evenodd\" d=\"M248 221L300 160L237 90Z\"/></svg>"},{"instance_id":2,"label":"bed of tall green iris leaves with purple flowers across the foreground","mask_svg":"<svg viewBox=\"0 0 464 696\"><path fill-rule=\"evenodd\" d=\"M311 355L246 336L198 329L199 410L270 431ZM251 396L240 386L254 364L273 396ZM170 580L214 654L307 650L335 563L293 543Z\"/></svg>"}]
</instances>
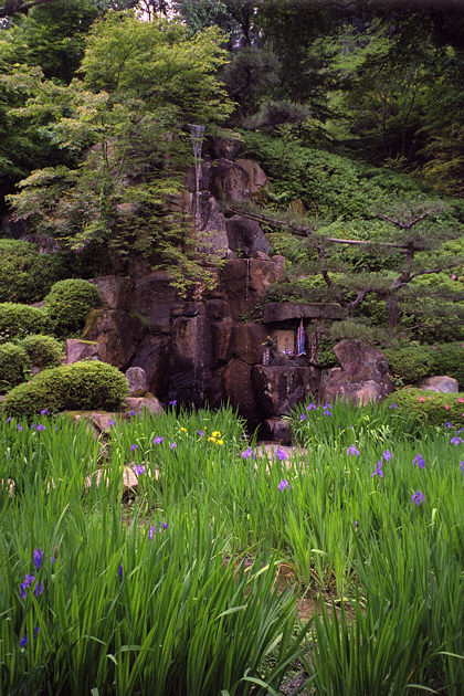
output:
<instances>
[{"instance_id":1,"label":"bed of tall green iris leaves with purple flowers across the foreground","mask_svg":"<svg viewBox=\"0 0 464 696\"><path fill-rule=\"evenodd\" d=\"M317 695L462 693L454 430L302 408L285 457L230 409L115 422L104 449L85 423L43 424L0 423L0 693L268 694L296 657ZM296 593L321 598L300 629Z\"/></svg>"}]
</instances>

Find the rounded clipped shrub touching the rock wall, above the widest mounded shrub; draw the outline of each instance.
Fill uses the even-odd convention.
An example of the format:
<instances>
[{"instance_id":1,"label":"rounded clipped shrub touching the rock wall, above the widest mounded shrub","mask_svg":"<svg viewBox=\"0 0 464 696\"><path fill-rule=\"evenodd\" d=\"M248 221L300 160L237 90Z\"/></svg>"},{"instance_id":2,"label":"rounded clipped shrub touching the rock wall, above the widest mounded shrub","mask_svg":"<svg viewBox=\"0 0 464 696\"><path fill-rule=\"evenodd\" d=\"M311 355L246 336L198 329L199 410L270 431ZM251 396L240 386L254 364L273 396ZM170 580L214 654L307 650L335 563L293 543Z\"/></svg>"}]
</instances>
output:
<instances>
[{"instance_id":1,"label":"rounded clipped shrub touching the rock wall, above the widest mounded shrub","mask_svg":"<svg viewBox=\"0 0 464 696\"><path fill-rule=\"evenodd\" d=\"M45 308L57 336L82 331L91 309L102 305L98 288L82 278L55 283L45 297Z\"/></svg>"}]
</instances>

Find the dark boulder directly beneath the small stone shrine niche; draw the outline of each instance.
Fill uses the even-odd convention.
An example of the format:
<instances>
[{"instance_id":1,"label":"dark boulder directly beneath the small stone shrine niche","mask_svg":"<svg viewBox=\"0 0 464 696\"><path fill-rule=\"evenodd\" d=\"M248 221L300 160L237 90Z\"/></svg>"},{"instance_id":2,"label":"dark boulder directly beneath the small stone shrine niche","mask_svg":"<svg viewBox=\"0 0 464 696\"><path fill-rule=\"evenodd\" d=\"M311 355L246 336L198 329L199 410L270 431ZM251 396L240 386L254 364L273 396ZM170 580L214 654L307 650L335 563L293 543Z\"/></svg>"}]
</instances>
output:
<instances>
[{"instance_id":1,"label":"dark boulder directly beneath the small stone shrine niche","mask_svg":"<svg viewBox=\"0 0 464 696\"><path fill-rule=\"evenodd\" d=\"M317 392L320 370L315 367L256 365L252 369L259 409L265 416L286 415L298 401Z\"/></svg>"}]
</instances>

